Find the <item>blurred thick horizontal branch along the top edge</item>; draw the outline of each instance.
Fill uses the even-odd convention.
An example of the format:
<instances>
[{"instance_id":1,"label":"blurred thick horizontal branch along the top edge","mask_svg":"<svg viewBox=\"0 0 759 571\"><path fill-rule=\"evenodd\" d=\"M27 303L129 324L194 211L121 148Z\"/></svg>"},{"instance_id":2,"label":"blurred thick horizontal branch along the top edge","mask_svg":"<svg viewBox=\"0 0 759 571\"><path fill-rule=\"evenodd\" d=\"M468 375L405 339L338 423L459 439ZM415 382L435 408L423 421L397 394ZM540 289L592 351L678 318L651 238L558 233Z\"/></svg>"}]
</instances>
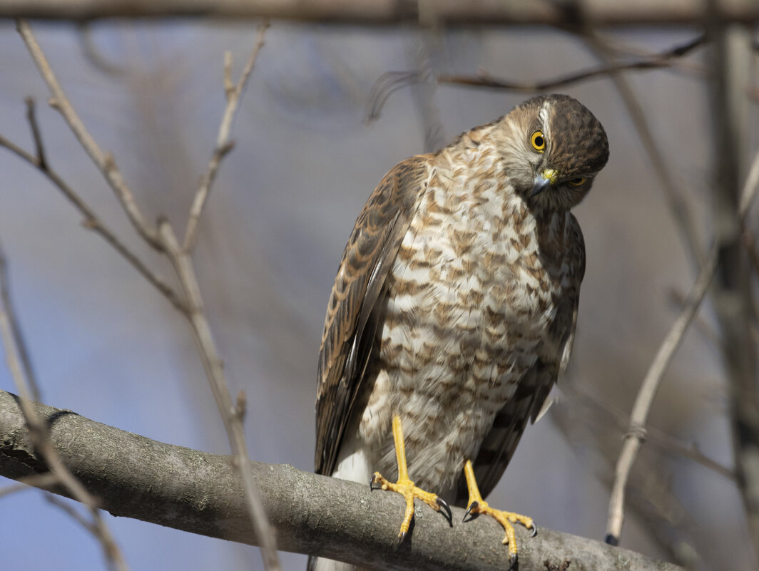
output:
<instances>
[{"instance_id":1,"label":"blurred thick horizontal branch along the top edge","mask_svg":"<svg viewBox=\"0 0 759 571\"><path fill-rule=\"evenodd\" d=\"M701 24L700 0L658 2L583 2L583 16L592 24ZM446 26L502 26L509 24L571 25L578 14L572 2L511 0L424 3L425 20ZM387 25L418 21L416 2L398 0L0 0L0 17L91 20L104 17L272 17L333 24ZM759 6L752 0L730 2L720 14L724 20L753 23Z\"/></svg>"}]
</instances>

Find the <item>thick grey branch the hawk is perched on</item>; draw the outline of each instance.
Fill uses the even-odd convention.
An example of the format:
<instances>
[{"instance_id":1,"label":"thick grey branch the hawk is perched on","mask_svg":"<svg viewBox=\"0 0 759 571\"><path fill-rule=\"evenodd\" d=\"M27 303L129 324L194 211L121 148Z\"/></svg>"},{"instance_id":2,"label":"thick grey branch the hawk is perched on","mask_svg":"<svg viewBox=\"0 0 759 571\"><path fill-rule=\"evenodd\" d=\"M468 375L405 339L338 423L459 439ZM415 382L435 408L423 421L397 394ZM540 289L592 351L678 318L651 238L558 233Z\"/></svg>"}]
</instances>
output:
<instances>
[{"instance_id":1,"label":"thick grey branch the hawk is perched on","mask_svg":"<svg viewBox=\"0 0 759 571\"><path fill-rule=\"evenodd\" d=\"M99 424L70 410L34 404L49 425L50 442L66 465L115 516L142 519L187 532L257 544L240 476L230 456L152 441ZM18 397L0 391L0 474L24 478L45 472L30 446ZM374 569L507 569L509 552L496 522L461 523L454 508L449 527L439 513L417 510L411 536L398 550L395 537L403 500L369 486L301 472L288 465L252 462L257 485L282 549L347 560ZM43 487L44 481L30 480ZM49 489L49 488L46 488ZM65 494L60 488L53 488ZM544 562L572 569L659 569L656 562L598 541L540 529L518 529L521 571Z\"/></svg>"}]
</instances>

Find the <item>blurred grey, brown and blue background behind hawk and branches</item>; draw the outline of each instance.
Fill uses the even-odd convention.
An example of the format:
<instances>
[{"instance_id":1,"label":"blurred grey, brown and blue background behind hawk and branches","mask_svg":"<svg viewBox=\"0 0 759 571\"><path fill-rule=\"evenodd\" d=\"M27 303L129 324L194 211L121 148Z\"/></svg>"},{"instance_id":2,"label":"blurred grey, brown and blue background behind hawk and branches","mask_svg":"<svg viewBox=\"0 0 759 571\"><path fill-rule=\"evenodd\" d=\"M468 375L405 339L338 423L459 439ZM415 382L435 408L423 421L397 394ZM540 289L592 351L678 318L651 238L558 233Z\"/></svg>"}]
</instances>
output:
<instances>
[{"instance_id":1,"label":"blurred grey, brown and blue background behind hawk and branches","mask_svg":"<svg viewBox=\"0 0 759 571\"><path fill-rule=\"evenodd\" d=\"M222 58L238 77L255 23L33 23L90 133L113 153L150 218L184 228L225 105ZM628 54L688 42L698 30L608 37ZM24 97L38 102L48 161L163 278L165 260L134 234L112 191L56 111L9 21L0 22L0 133L33 150ZM710 242L713 135L698 49L666 70L625 74L657 152ZM527 93L408 86L364 120L387 71L421 70L531 82L600 64L548 28L422 33L288 24L266 33L200 225L194 256L232 394L247 394L250 456L313 468L313 403L324 313L340 254L367 196L389 168L492 121ZM587 273L575 351L550 413L524 435L491 504L539 526L603 539L609 482L635 394L694 266L662 184L608 77L556 89L584 103L611 158L575 215ZM756 114L751 115L756 131ZM754 135L747 156L753 155ZM140 435L228 453L184 318L99 236L43 175L0 149L0 244L43 402ZM750 569L731 466L726 385L710 303L691 328L653 406L651 438L631 480L622 546L695 569ZM0 368L0 388L15 392ZM691 456L691 457L689 457ZM729 472L729 469L728 469ZM2 480L0 485L11 482ZM304 498L307 501L307 498ZM105 514L131 569L263 569L255 547ZM0 500L2 569L102 569L93 537L39 491ZM282 554L285 569L305 557Z\"/></svg>"}]
</instances>

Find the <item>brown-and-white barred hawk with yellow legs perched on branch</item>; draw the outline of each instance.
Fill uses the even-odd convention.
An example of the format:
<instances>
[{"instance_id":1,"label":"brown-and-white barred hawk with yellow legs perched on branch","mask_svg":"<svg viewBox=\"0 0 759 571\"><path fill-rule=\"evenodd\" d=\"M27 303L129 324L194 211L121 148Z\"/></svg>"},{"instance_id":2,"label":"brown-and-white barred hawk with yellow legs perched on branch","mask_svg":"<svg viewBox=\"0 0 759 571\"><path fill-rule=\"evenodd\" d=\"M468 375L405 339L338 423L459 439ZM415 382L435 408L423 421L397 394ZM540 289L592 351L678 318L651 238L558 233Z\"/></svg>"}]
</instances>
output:
<instances>
[{"instance_id":1,"label":"brown-and-white barred hawk with yellow legs perched on branch","mask_svg":"<svg viewBox=\"0 0 759 571\"><path fill-rule=\"evenodd\" d=\"M535 529L483 497L568 361L585 268L570 209L608 158L591 111L538 96L399 163L364 205L324 324L315 468L404 494L399 541L414 497L496 517L512 562L512 522Z\"/></svg>"}]
</instances>

